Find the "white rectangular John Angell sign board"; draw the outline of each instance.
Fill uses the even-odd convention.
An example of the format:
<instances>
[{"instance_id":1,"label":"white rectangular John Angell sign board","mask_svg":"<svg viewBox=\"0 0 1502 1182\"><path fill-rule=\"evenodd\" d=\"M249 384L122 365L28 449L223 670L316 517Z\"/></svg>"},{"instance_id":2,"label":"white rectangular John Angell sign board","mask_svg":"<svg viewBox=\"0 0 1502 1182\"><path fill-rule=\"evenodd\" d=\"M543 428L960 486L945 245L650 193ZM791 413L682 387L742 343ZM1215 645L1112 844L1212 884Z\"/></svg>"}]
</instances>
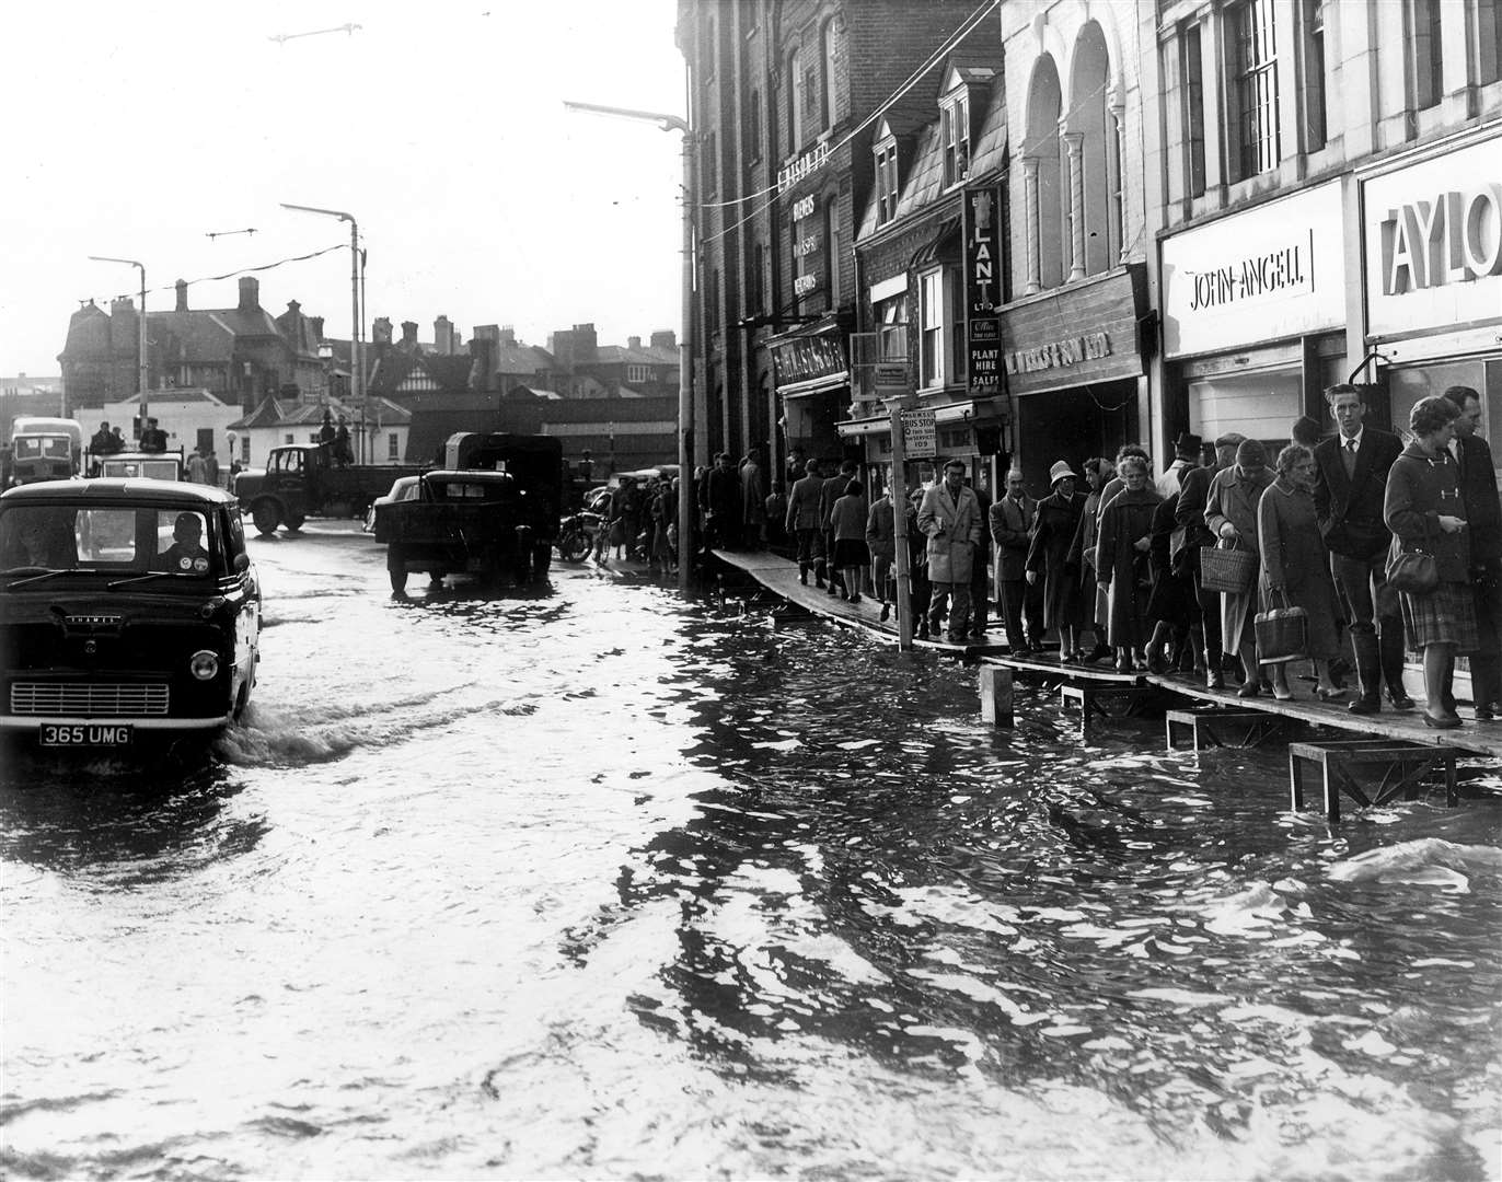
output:
<instances>
[{"instance_id":1,"label":"white rectangular John Angell sign board","mask_svg":"<svg viewBox=\"0 0 1502 1182\"><path fill-rule=\"evenodd\" d=\"M1346 323L1341 182L1163 242L1169 357L1241 348Z\"/></svg>"}]
</instances>

